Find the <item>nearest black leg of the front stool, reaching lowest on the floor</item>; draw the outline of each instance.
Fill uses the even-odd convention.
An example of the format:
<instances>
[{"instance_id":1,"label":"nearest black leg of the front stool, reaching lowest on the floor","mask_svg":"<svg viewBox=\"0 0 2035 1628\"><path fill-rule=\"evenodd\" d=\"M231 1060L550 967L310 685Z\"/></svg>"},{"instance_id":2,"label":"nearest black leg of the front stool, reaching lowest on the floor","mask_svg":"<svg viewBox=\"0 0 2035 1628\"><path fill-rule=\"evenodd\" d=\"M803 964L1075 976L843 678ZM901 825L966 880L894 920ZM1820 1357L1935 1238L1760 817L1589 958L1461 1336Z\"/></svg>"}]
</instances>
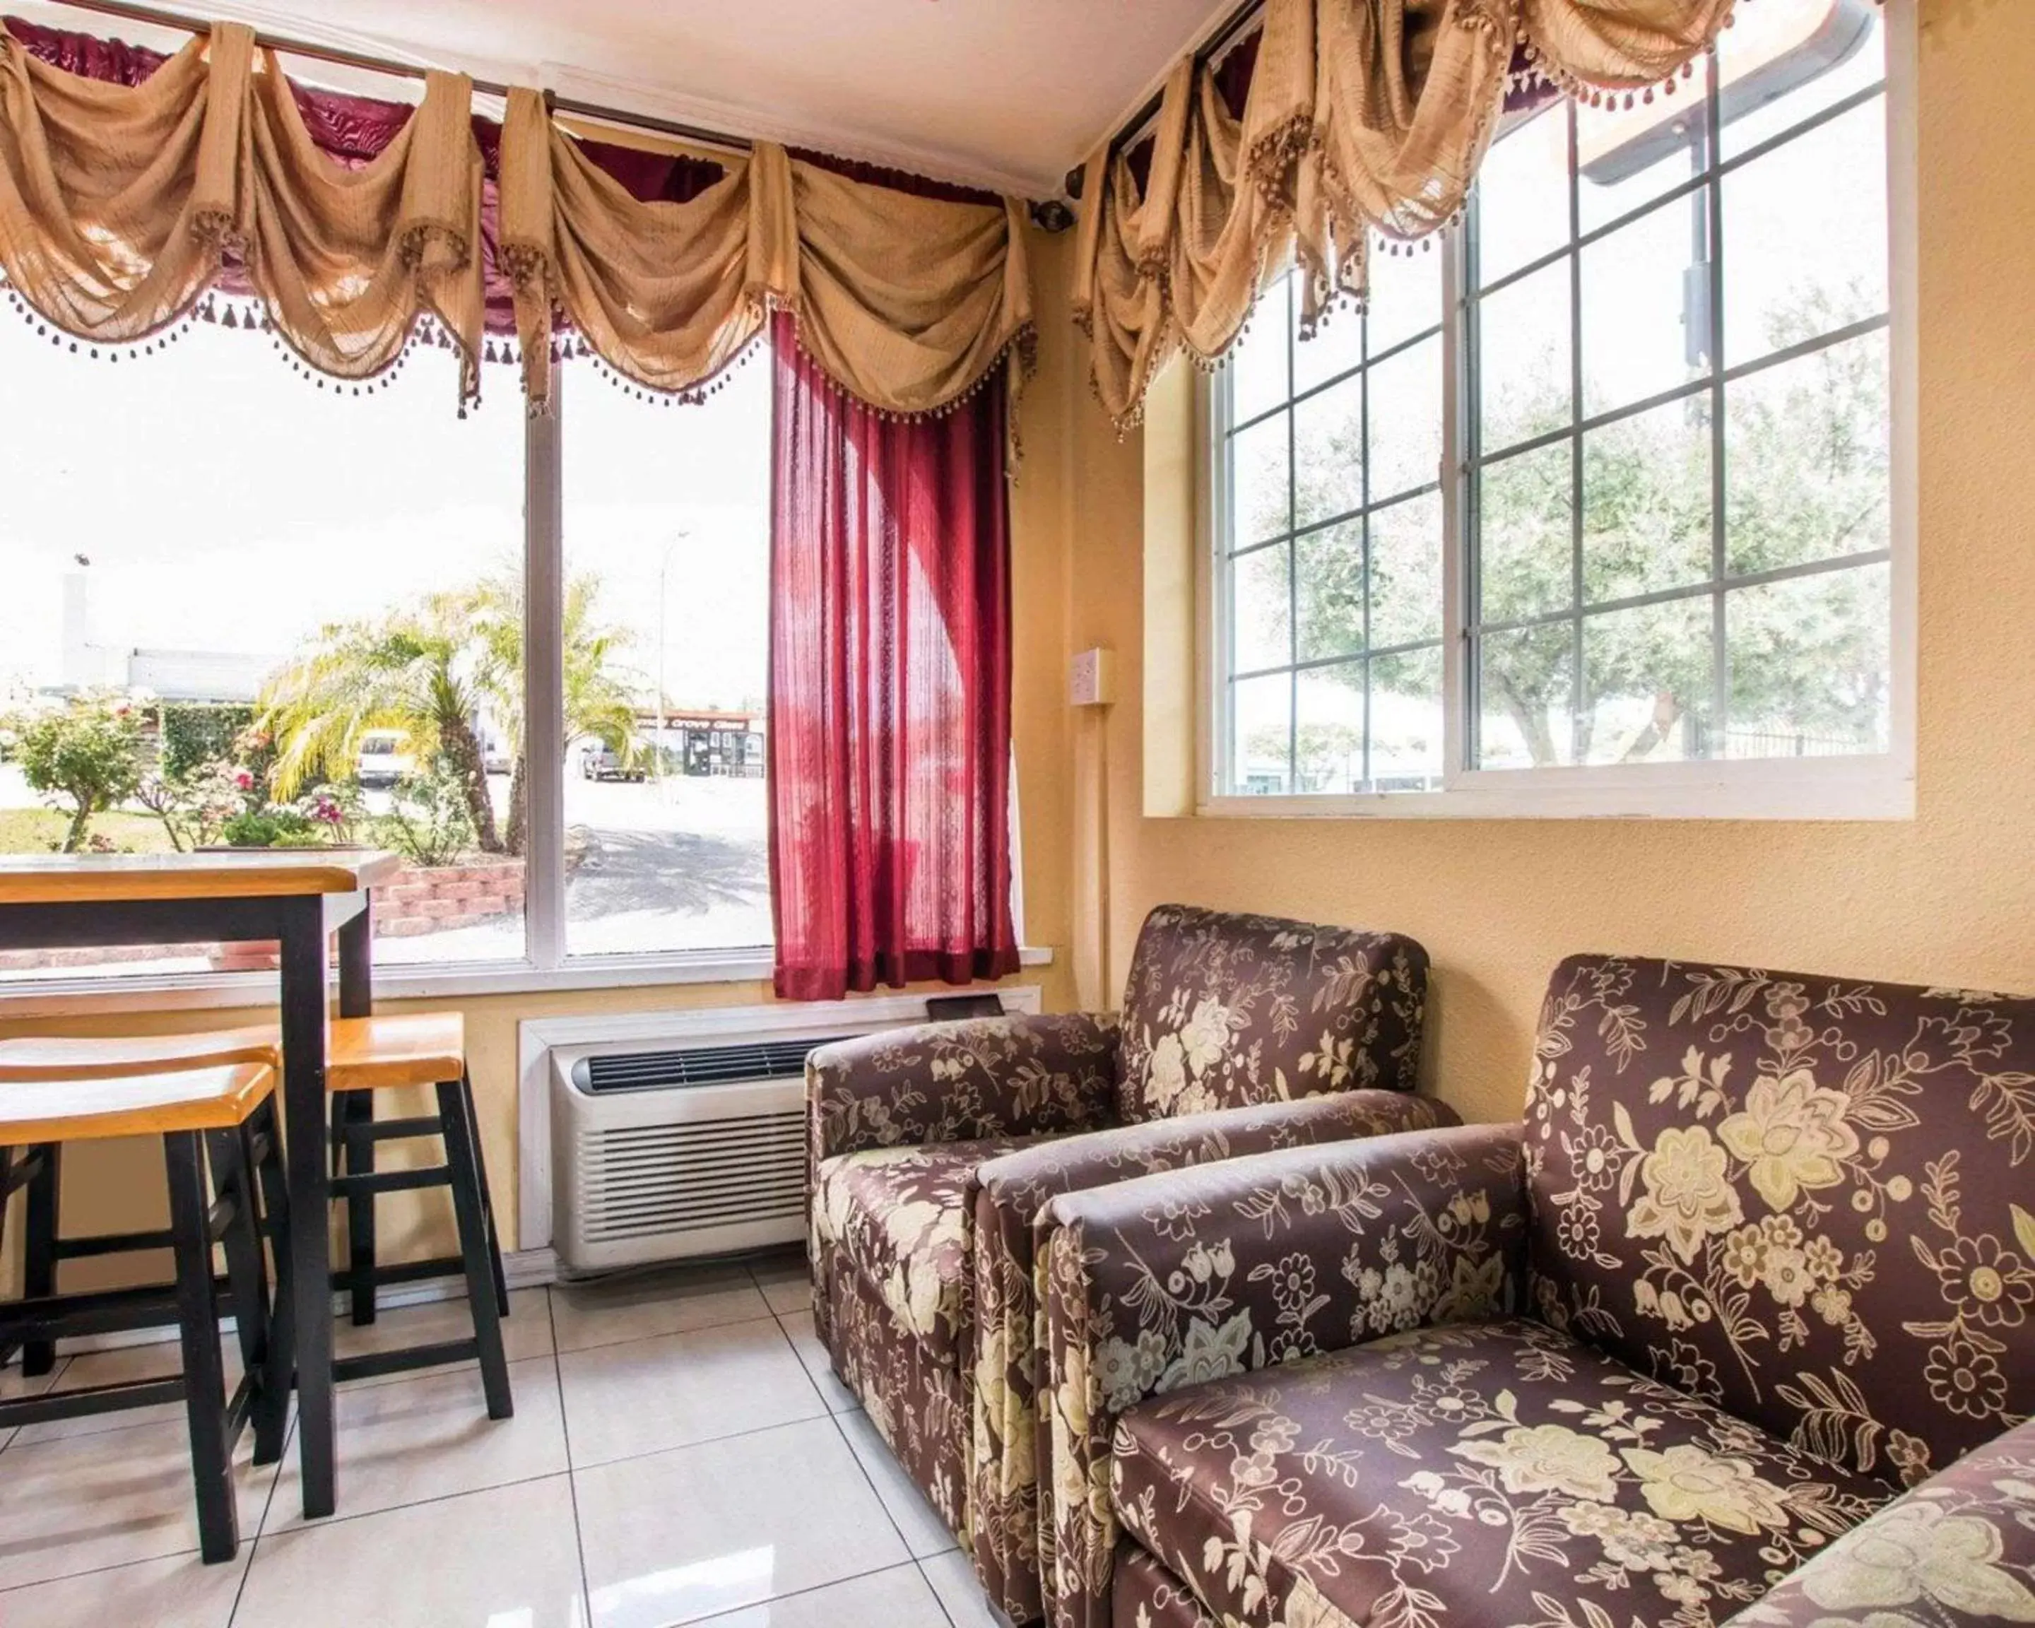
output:
<instances>
[{"instance_id":1,"label":"nearest black leg of the front stool, reaching lowest on the floor","mask_svg":"<svg viewBox=\"0 0 2035 1628\"><path fill-rule=\"evenodd\" d=\"M169 1233L177 1254L177 1333L183 1339L183 1408L191 1427L197 1484L197 1549L206 1563L240 1549L232 1447L226 1435L226 1374L220 1365L220 1309L212 1294L212 1229L206 1160L197 1131L163 1138L169 1166Z\"/></svg>"}]
</instances>

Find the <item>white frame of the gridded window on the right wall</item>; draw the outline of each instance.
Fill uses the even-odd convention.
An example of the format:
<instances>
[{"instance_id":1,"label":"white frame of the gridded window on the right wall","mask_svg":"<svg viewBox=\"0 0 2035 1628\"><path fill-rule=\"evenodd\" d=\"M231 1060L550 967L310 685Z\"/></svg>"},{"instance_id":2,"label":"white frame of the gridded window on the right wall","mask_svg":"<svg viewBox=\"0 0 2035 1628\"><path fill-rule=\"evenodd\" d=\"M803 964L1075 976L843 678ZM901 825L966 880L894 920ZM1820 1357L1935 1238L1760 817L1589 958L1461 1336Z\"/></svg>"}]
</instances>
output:
<instances>
[{"instance_id":1,"label":"white frame of the gridded window on the right wall","mask_svg":"<svg viewBox=\"0 0 2035 1628\"><path fill-rule=\"evenodd\" d=\"M1915 8L1882 10L1886 47L1888 230L1888 749L1854 757L1770 757L1691 763L1602 763L1540 769L1469 765L1469 547L1463 531L1471 466L1465 456L1461 291L1465 250L1451 228L1443 252L1443 773L1439 792L1227 792L1227 572L1229 391L1195 379L1197 435L1197 814L1215 818L1667 818L1667 820L1911 820L1915 818L1915 554L1917 554L1917 22Z\"/></svg>"}]
</instances>

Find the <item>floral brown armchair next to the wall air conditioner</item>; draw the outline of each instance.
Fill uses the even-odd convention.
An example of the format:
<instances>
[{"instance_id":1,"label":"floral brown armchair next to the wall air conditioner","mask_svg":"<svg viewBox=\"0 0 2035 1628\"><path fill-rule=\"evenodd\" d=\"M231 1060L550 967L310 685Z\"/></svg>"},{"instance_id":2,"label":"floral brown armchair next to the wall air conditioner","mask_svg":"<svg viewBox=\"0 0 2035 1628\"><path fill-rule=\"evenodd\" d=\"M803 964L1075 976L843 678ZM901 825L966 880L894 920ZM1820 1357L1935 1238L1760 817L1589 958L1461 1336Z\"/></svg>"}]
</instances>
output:
<instances>
[{"instance_id":1,"label":"floral brown armchair next to the wall air conditioner","mask_svg":"<svg viewBox=\"0 0 2035 1628\"><path fill-rule=\"evenodd\" d=\"M875 1034L808 1064L814 1321L834 1370L1013 1620L1042 1614L1038 1223L1054 1197L1453 1123L1412 1095L1408 938L1152 912L1121 1015Z\"/></svg>"}]
</instances>

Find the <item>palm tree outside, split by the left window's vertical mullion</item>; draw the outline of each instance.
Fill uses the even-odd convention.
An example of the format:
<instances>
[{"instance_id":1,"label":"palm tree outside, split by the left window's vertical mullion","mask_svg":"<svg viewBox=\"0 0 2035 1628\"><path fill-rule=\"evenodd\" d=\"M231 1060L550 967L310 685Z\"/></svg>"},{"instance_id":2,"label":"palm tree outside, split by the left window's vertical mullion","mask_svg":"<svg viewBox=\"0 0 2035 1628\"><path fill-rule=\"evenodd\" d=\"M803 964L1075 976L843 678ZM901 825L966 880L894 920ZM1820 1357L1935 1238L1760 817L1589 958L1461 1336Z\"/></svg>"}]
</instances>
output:
<instances>
[{"instance_id":1,"label":"palm tree outside, split by the left window's vertical mullion","mask_svg":"<svg viewBox=\"0 0 2035 1628\"><path fill-rule=\"evenodd\" d=\"M623 763L637 757L635 704L629 698L619 655L629 633L594 621L600 578L582 574L566 584L562 615L564 716L560 741L564 769L574 745L600 741ZM488 698L488 712L509 735L513 775L509 779L509 853L523 853L529 820L529 753L523 731L523 580L515 574L488 578L474 594L474 639L480 649L476 682Z\"/></svg>"}]
</instances>

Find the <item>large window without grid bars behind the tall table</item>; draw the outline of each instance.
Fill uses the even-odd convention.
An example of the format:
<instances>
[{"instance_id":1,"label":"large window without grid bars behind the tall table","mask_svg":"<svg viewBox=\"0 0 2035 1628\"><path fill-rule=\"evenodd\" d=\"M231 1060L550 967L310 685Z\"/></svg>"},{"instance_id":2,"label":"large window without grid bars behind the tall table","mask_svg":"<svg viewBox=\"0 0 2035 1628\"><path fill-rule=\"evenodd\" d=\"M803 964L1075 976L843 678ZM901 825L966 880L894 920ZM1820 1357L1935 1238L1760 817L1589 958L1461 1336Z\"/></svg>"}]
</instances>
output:
<instances>
[{"instance_id":1,"label":"large window without grid bars behind the tall table","mask_svg":"<svg viewBox=\"0 0 2035 1628\"><path fill-rule=\"evenodd\" d=\"M0 322L0 853L73 824L100 851L395 847L385 969L767 950L769 368L665 407L566 366L525 433L509 368L460 419L446 350L356 395L244 326L112 362ZM564 676L529 694L525 482L560 476L533 564L562 566ZM106 759L85 810L51 783L63 741ZM260 965L8 952L0 985Z\"/></svg>"}]
</instances>

